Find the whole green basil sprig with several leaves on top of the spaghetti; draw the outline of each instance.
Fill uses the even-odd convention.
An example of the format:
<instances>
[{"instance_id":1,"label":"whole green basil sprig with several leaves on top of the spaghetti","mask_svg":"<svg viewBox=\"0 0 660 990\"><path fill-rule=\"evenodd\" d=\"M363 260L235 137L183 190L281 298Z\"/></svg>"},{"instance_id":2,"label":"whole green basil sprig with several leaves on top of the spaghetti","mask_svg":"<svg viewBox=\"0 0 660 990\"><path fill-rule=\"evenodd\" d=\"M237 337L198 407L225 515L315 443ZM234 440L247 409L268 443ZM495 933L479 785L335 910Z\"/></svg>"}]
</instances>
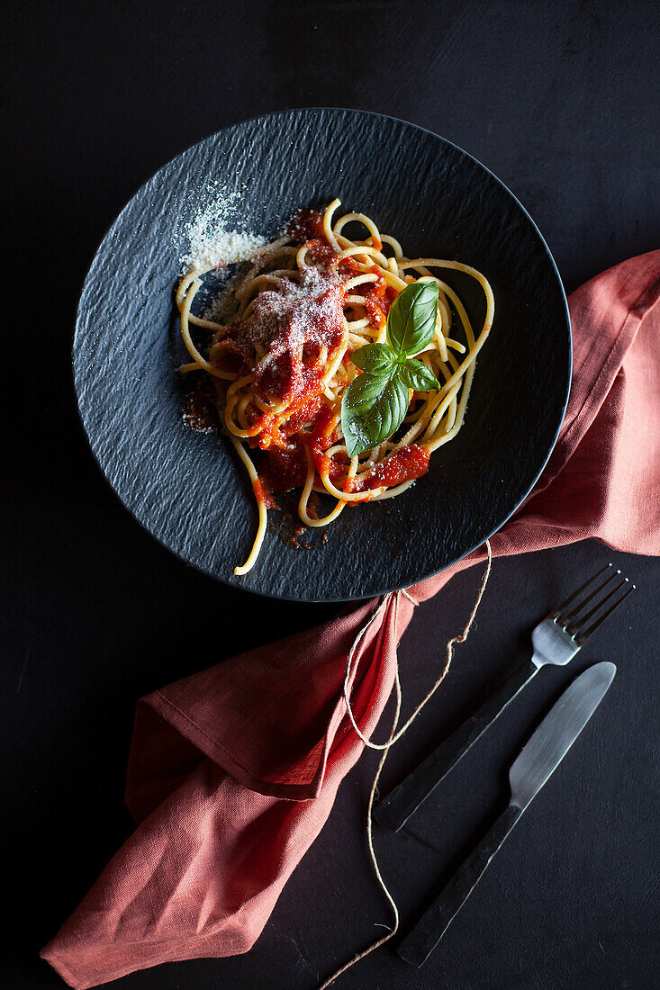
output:
<instances>
[{"instance_id":1,"label":"whole green basil sprig with several leaves on top of the spaghetti","mask_svg":"<svg viewBox=\"0 0 660 990\"><path fill-rule=\"evenodd\" d=\"M408 409L408 389L428 392L440 382L416 360L435 331L436 282L411 282L394 299L385 329L386 344L367 344L351 360L363 372L342 400L342 430L350 457L383 444L400 427Z\"/></svg>"}]
</instances>

